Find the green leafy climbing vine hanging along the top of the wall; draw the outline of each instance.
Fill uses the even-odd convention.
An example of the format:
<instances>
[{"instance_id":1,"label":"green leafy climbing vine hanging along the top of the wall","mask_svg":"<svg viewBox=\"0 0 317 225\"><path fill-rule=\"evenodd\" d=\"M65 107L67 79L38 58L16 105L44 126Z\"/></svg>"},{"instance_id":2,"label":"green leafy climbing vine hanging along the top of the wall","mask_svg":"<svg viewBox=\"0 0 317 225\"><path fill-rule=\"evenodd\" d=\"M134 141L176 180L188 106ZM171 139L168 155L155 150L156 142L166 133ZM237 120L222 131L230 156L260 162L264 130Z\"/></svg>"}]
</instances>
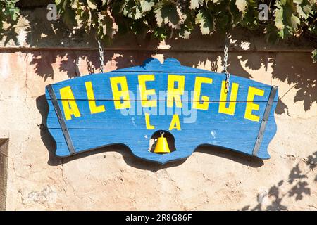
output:
<instances>
[{"instance_id":1,"label":"green leafy climbing vine hanging along the top of the wall","mask_svg":"<svg viewBox=\"0 0 317 225\"><path fill-rule=\"evenodd\" d=\"M17 1L0 0L1 19L16 19ZM302 35L317 43L317 0L55 0L55 4L68 26L94 30L106 43L126 32L187 39L196 26L206 35L244 27L261 30L274 43ZM260 4L268 6L267 20L259 18ZM317 50L312 58L316 62Z\"/></svg>"}]
</instances>

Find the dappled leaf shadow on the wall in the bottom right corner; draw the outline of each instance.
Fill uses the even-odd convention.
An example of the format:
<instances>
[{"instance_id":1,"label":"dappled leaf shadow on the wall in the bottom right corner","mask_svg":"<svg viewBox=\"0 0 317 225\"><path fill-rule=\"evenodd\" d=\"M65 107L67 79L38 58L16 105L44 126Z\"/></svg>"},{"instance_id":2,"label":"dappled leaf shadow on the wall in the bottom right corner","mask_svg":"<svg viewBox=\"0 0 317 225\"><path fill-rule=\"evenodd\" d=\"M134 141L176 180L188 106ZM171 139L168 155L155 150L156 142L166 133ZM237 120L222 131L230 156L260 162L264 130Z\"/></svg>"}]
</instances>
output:
<instances>
[{"instance_id":1,"label":"dappled leaf shadow on the wall in the bottom right corner","mask_svg":"<svg viewBox=\"0 0 317 225\"><path fill-rule=\"evenodd\" d=\"M317 151L312 155L309 155L308 158L304 159L306 167L303 169L306 172L299 169L299 163L295 167L292 168L288 179L281 180L278 184L271 186L268 189L268 193L264 192L257 196L259 204L255 207L251 207L247 205L242 208L242 211L252 210L252 211L260 211L260 210L288 210L286 205L282 204L282 200L286 197L295 198L296 201L302 200L305 195L311 195L311 188L309 187L309 183L307 182L307 178L309 176L314 176L313 169L317 168ZM314 179L317 182L317 175ZM291 188L285 191L285 186L290 184ZM317 184L315 184L317 185ZM273 198L271 204L263 203L264 198ZM316 206L311 205L313 210L317 210Z\"/></svg>"}]
</instances>

